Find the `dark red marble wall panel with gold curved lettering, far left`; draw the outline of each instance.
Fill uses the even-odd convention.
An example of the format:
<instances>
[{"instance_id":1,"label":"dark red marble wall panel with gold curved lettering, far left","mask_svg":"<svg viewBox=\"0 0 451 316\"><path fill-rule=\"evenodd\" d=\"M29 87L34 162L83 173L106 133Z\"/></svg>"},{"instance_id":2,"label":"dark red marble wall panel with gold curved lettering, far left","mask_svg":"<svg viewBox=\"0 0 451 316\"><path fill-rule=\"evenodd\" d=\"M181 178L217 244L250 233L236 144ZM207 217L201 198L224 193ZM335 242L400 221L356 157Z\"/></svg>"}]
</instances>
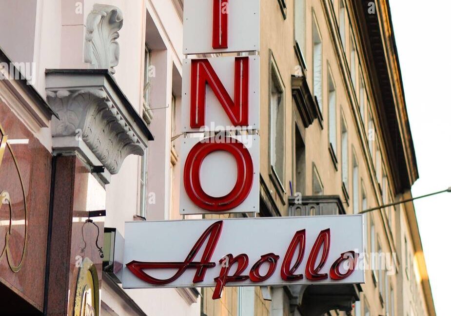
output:
<instances>
[{"instance_id":1,"label":"dark red marble wall panel with gold curved lettering, far left","mask_svg":"<svg viewBox=\"0 0 451 316\"><path fill-rule=\"evenodd\" d=\"M0 282L42 311L52 156L1 101L0 124Z\"/></svg>"}]
</instances>

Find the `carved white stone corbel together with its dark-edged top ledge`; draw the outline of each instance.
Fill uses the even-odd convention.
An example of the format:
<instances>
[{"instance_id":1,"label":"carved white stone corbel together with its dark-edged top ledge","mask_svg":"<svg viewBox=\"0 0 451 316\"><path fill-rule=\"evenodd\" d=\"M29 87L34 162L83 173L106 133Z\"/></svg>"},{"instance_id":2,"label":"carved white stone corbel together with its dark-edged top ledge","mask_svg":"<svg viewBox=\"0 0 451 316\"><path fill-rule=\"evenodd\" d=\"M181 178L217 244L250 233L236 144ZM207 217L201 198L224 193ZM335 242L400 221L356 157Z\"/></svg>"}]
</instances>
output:
<instances>
[{"instance_id":1,"label":"carved white stone corbel together with its dark-edged top ledge","mask_svg":"<svg viewBox=\"0 0 451 316\"><path fill-rule=\"evenodd\" d=\"M47 70L47 101L54 154L80 154L103 165L102 181L118 173L124 159L144 154L152 134L107 70Z\"/></svg>"}]
</instances>

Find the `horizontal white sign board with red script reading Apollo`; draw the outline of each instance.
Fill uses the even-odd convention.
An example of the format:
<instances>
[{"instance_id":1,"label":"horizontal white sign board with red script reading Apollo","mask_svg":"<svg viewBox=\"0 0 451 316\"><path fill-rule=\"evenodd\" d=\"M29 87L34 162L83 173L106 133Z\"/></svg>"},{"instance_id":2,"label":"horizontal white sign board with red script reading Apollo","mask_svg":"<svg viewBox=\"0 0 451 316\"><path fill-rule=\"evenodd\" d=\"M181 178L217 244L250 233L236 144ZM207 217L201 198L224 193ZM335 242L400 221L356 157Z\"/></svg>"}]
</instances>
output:
<instances>
[{"instance_id":1,"label":"horizontal white sign board with red script reading Apollo","mask_svg":"<svg viewBox=\"0 0 451 316\"><path fill-rule=\"evenodd\" d=\"M364 283L363 258L362 215L126 222L122 286Z\"/></svg>"}]
</instances>

